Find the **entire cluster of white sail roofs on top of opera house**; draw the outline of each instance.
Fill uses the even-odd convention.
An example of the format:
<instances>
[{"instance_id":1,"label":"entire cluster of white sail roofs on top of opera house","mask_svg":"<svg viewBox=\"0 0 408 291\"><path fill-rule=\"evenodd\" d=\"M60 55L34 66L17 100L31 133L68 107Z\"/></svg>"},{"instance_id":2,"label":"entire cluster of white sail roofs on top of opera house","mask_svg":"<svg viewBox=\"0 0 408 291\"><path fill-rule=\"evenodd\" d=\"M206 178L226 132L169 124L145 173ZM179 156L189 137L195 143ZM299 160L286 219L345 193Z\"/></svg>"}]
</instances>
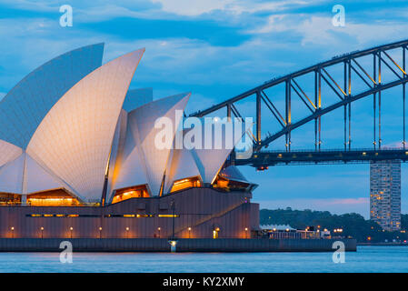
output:
<instances>
[{"instance_id":1,"label":"entire cluster of white sail roofs on top of opera house","mask_svg":"<svg viewBox=\"0 0 408 291\"><path fill-rule=\"evenodd\" d=\"M226 131L215 121L198 129L199 148L158 147L163 127L156 122L171 121L174 143L190 94L152 101L151 88L128 90L144 49L100 66L102 53L103 45L90 45L61 55L27 75L0 102L0 192L65 188L84 202L99 202L106 175L107 201L114 190L131 186L146 185L157 196L163 181L164 193L184 178L214 181L244 131L235 135L234 124ZM233 170L224 169L223 175L242 179Z\"/></svg>"}]
</instances>

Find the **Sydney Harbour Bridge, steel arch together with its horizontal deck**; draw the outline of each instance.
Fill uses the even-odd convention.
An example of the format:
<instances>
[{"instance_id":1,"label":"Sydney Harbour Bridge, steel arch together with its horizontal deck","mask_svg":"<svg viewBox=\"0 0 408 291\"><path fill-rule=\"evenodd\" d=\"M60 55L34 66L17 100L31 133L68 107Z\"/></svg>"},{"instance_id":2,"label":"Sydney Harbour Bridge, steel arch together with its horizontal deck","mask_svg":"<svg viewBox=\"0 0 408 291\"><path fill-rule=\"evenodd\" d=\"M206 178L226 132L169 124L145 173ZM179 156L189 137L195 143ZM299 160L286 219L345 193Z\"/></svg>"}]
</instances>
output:
<instances>
[{"instance_id":1,"label":"Sydney Harbour Bridge, steel arch together with its horizontal deck","mask_svg":"<svg viewBox=\"0 0 408 291\"><path fill-rule=\"evenodd\" d=\"M238 110L237 104L253 100L247 102L246 107L254 107L255 128L251 135L254 153L245 159L236 159L233 153L229 160L236 166L249 165L264 170L275 165L368 163L393 159L404 162L408 160L405 135L407 50L408 40L404 40L338 55L329 61L276 77L190 116L203 117L225 110L224 114L228 117L243 118L244 114ZM270 93L277 87L282 88L279 94ZM393 95L393 98L399 98L402 102L401 111L395 113L401 128L398 133L401 146L385 147L382 145L382 108L387 100L382 100L382 95L393 88L399 88L398 94ZM335 97L327 102L324 99L328 95ZM367 141L367 146L354 148L352 115L359 113L352 108L356 101L363 98L371 100L370 108L364 110L371 112L372 137ZM301 112L302 117L296 118L294 104L296 112ZM323 147L322 125L325 116L336 111L341 111L342 115L341 125L336 131L342 133L343 141L336 149L326 148ZM272 133L264 130L267 127L263 122L264 115L270 115L278 125ZM302 150L292 148L293 131L302 130L310 123L314 127L313 143L310 143L313 146ZM284 139L283 150L266 149L278 139Z\"/></svg>"}]
</instances>

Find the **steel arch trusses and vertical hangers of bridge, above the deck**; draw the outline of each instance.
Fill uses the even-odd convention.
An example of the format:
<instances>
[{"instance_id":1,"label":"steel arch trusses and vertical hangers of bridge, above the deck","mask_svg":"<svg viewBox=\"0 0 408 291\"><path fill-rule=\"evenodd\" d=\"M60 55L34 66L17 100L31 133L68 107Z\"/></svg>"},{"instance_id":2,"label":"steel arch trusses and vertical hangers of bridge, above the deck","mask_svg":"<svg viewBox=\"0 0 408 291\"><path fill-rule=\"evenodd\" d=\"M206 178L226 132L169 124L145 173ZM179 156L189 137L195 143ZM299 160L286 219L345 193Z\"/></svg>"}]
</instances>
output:
<instances>
[{"instance_id":1,"label":"steel arch trusses and vertical hangers of bridge, above the deck","mask_svg":"<svg viewBox=\"0 0 408 291\"><path fill-rule=\"evenodd\" d=\"M241 95L236 95L231 99L214 105L202 111L198 111L190 116L202 117L226 108L227 116L232 114L237 117L242 117L234 105L250 96L256 96L256 129L254 133L254 152L260 152L262 148L267 147L274 140L285 135L286 152L291 151L291 132L310 121L314 120L314 145L315 151L321 150L321 117L339 107L344 108L344 150L351 150L351 104L365 96L373 95L373 151L381 150L381 94L383 90L392 88L397 85L403 86L403 150L405 149L405 87L408 82L406 73L406 51L408 50L408 40L396 42L388 45L380 45L362 51L355 51L349 54L333 57L331 60L309 66L303 70L294 72L289 75L274 78L263 85L259 85ZM401 49L403 64L398 64L390 55L390 50ZM371 56L373 58L372 72L368 72L367 68L359 63L359 58L363 56ZM335 78L328 73L327 67L331 65L343 64L343 85L339 85ZM395 80L387 83L382 82L382 66L385 65L395 75ZM360 82L363 82L367 89L363 92L353 95L352 72L358 76ZM313 96L306 95L301 85L296 82L296 78L314 74ZM338 102L333 105L322 106L322 84L323 82L333 90L333 93L339 97ZM265 89L276 85L285 85L285 112L281 113L274 105L271 98L264 92ZM303 119L292 123L292 98L299 97L306 108L310 111ZM268 135L262 139L261 132L261 105L264 103L269 109L274 118L282 125L282 128L273 135ZM376 119L376 111L378 110L378 119Z\"/></svg>"}]
</instances>

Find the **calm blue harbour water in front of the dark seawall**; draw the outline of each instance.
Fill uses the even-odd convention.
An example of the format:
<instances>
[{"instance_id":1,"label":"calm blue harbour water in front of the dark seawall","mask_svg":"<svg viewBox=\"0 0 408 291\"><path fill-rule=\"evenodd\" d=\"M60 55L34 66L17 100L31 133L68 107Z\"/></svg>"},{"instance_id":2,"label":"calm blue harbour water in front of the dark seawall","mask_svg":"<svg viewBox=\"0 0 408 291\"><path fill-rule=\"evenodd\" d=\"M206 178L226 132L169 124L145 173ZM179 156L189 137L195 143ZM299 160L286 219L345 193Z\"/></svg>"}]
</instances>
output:
<instances>
[{"instance_id":1,"label":"calm blue harbour water in front of the dark seawall","mask_svg":"<svg viewBox=\"0 0 408 291\"><path fill-rule=\"evenodd\" d=\"M334 264L333 253L0 253L0 272L408 272L407 246L358 246Z\"/></svg>"}]
</instances>

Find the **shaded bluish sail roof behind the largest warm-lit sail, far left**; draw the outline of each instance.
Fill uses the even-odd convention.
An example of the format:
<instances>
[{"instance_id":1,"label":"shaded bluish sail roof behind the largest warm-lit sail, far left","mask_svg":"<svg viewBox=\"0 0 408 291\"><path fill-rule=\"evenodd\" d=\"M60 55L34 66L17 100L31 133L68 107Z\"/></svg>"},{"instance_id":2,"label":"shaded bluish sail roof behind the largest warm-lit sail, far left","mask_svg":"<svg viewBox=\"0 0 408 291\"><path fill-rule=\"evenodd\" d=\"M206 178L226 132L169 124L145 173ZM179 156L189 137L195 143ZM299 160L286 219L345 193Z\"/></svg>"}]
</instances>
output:
<instances>
[{"instance_id":1,"label":"shaded bluish sail roof behind the largest warm-lit sail, far left","mask_svg":"<svg viewBox=\"0 0 408 291\"><path fill-rule=\"evenodd\" d=\"M102 65L104 44L65 53L26 75L0 102L0 139L23 149L53 105Z\"/></svg>"}]
</instances>

